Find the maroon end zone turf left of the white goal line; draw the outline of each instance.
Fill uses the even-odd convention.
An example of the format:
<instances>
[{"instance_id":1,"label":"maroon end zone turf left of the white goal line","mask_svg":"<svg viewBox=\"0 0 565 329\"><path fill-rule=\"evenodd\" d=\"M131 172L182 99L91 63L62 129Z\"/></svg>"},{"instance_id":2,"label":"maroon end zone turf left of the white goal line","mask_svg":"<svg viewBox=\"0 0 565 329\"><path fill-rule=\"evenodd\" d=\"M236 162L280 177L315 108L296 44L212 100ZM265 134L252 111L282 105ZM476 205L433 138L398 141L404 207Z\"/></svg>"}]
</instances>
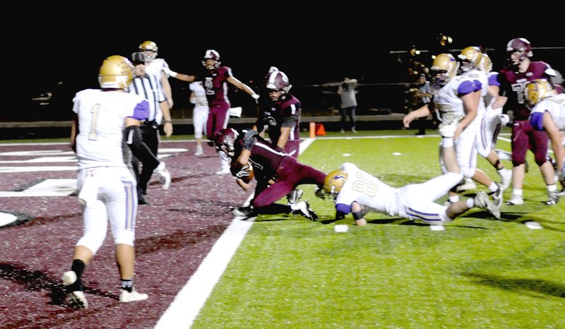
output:
<instances>
[{"instance_id":1,"label":"maroon end zone turf left of the white goal line","mask_svg":"<svg viewBox=\"0 0 565 329\"><path fill-rule=\"evenodd\" d=\"M76 196L0 197L0 212L27 222L0 228L0 328L153 328L177 292L232 221L230 205L246 198L230 175L217 176L220 160L204 146L195 157L194 143L164 142L186 148L165 158L172 174L168 191L154 175L149 205L138 208L136 277L146 301L120 303L119 274L108 232L105 244L83 275L89 308L71 309L61 275L70 270L74 244L82 235ZM0 152L63 150L67 145L0 145ZM69 157L72 155L61 155ZM38 156L0 155L1 167L76 166L76 162L5 163ZM76 171L0 172L0 191L17 191L43 179L75 179Z\"/></svg>"}]
</instances>

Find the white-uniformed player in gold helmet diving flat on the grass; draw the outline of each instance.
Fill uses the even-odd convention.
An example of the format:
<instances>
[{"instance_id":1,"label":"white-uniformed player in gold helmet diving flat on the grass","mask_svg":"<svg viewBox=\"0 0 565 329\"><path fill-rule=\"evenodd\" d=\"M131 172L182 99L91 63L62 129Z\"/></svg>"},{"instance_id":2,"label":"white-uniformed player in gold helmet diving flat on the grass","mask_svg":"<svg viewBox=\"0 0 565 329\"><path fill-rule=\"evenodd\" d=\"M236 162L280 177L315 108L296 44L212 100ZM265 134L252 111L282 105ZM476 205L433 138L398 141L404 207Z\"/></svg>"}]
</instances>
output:
<instances>
[{"instance_id":1,"label":"white-uniformed player in gold helmet diving flat on the grass","mask_svg":"<svg viewBox=\"0 0 565 329\"><path fill-rule=\"evenodd\" d=\"M484 191L477 193L475 198L448 206L434 202L463 179L453 148L453 138L444 137L441 144L446 174L400 189L388 186L355 164L342 164L340 169L328 174L323 185L323 189L335 197L336 219L352 213L355 224L363 226L367 225L365 215L369 211L376 211L409 220L422 220L430 225L443 225L474 207L486 209L494 217L500 218L499 208Z\"/></svg>"}]
</instances>

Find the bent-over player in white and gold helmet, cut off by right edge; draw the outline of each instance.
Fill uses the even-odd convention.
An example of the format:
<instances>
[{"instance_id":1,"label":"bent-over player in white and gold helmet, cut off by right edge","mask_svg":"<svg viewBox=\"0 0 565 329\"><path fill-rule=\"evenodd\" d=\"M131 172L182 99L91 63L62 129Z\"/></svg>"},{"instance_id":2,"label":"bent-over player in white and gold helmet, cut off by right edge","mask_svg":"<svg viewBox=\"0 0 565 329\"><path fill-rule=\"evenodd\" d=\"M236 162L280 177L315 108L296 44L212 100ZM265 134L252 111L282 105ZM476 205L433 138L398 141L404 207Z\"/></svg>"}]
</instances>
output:
<instances>
[{"instance_id":1,"label":"bent-over player in white and gold helmet, cut off by right edge","mask_svg":"<svg viewBox=\"0 0 565 329\"><path fill-rule=\"evenodd\" d=\"M557 94L549 81L535 79L524 88L524 99L531 108L530 122L535 130L547 131L549 140L557 162L557 179L563 189L549 192L549 201L555 204L559 196L565 191L565 139L562 132L565 131L565 94Z\"/></svg>"}]
</instances>

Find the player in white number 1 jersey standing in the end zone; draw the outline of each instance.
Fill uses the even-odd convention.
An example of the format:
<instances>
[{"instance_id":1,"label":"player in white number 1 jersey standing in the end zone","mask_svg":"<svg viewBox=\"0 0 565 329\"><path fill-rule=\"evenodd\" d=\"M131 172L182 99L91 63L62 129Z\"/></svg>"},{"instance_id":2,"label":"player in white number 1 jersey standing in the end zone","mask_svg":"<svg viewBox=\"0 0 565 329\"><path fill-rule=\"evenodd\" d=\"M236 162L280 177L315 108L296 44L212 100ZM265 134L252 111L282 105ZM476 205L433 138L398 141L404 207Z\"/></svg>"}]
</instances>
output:
<instances>
[{"instance_id":1,"label":"player in white number 1 jersey standing in the end zone","mask_svg":"<svg viewBox=\"0 0 565 329\"><path fill-rule=\"evenodd\" d=\"M83 210L83 237L76 243L71 270L62 280L71 305L86 309L82 276L85 266L105 240L108 222L114 238L121 279L119 301L141 301L147 294L133 288L137 193L136 179L124 162L126 132L138 131L149 113L147 100L126 92L133 77L131 62L109 56L100 67L99 89L86 89L73 98L76 114L71 148L78 157L78 200Z\"/></svg>"}]
</instances>

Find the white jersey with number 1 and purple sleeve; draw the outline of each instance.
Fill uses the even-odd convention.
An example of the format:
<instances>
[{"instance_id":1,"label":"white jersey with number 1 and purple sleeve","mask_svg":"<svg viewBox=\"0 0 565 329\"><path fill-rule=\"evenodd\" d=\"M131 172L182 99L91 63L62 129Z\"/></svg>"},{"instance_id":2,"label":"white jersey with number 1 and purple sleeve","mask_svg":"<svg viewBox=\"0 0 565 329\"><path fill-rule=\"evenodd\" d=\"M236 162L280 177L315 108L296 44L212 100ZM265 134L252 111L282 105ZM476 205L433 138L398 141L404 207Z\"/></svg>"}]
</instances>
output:
<instances>
[{"instance_id":1,"label":"white jersey with number 1 and purple sleeve","mask_svg":"<svg viewBox=\"0 0 565 329\"><path fill-rule=\"evenodd\" d=\"M78 169L126 167L121 149L124 120L147 119L147 100L127 92L87 89L77 92L73 103L78 116Z\"/></svg>"}]
</instances>

